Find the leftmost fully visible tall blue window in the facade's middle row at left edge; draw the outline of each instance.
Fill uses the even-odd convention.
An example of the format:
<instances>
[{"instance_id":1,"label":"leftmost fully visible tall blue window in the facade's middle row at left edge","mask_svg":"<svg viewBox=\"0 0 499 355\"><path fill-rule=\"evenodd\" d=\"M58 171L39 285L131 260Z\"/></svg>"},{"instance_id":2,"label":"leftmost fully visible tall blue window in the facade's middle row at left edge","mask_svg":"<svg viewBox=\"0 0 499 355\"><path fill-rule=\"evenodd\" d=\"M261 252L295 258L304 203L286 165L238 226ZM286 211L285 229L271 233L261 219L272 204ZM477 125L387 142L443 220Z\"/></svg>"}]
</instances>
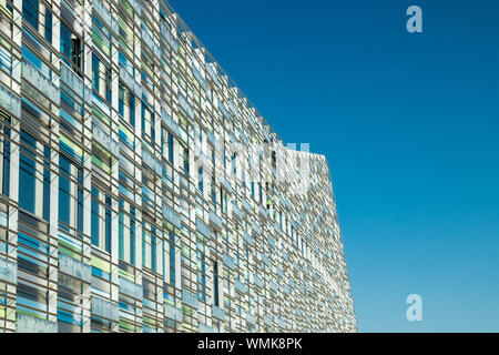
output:
<instances>
[{"instance_id":1,"label":"leftmost fully visible tall blue window in the facade's middle row at left edge","mask_svg":"<svg viewBox=\"0 0 499 355\"><path fill-rule=\"evenodd\" d=\"M39 155L44 156L43 163ZM50 149L21 129L19 168L19 206L49 220Z\"/></svg>"}]
</instances>

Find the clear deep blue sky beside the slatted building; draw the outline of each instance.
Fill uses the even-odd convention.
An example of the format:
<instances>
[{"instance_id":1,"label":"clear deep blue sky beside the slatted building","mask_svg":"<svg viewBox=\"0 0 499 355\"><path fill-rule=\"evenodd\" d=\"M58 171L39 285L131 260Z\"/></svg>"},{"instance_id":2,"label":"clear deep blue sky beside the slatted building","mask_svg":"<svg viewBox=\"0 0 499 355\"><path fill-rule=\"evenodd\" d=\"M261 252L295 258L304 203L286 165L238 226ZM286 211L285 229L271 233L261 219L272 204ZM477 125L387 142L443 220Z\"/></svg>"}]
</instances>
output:
<instances>
[{"instance_id":1,"label":"clear deep blue sky beside the slatted building","mask_svg":"<svg viewBox=\"0 0 499 355\"><path fill-rule=\"evenodd\" d=\"M326 154L359 331L499 332L499 1L170 3L286 143Z\"/></svg>"}]
</instances>

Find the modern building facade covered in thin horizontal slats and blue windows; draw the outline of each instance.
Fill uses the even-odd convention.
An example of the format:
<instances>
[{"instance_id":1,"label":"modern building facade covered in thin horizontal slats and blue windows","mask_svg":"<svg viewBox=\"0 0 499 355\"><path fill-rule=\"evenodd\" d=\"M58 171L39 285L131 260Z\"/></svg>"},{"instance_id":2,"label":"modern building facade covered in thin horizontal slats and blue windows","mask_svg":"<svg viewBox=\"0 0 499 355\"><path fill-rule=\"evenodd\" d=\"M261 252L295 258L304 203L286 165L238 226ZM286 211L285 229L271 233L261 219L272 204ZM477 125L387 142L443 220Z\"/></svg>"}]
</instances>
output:
<instances>
[{"instance_id":1,"label":"modern building facade covered in thin horizontal slats and blue windows","mask_svg":"<svg viewBox=\"0 0 499 355\"><path fill-rule=\"evenodd\" d=\"M164 1L0 0L0 329L355 332L329 168Z\"/></svg>"}]
</instances>

